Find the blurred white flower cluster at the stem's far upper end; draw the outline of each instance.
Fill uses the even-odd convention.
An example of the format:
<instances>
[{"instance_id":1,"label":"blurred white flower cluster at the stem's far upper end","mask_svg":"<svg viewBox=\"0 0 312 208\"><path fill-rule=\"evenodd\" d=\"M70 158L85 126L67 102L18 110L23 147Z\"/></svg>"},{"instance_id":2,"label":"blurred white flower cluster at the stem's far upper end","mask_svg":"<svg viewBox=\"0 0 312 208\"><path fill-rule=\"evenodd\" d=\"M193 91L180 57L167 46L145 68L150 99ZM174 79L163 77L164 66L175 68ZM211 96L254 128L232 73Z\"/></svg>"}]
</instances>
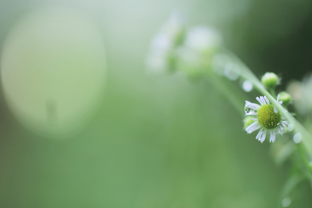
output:
<instances>
[{"instance_id":1,"label":"blurred white flower cluster at the stem's far upper end","mask_svg":"<svg viewBox=\"0 0 312 208\"><path fill-rule=\"evenodd\" d=\"M219 33L210 27L186 29L185 18L173 14L154 37L147 59L149 72L182 71L198 77L211 71L212 59L222 47Z\"/></svg>"}]
</instances>

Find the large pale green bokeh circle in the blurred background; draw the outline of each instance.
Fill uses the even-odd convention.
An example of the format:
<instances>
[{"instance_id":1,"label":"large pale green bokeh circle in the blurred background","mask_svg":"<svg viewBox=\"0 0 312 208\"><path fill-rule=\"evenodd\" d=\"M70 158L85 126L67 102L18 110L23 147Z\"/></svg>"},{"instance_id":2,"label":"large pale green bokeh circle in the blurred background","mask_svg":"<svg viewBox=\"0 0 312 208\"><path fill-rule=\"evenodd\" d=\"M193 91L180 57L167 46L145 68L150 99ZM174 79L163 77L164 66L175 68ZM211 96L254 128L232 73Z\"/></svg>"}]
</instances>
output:
<instances>
[{"instance_id":1,"label":"large pale green bokeh circle in the blurred background","mask_svg":"<svg viewBox=\"0 0 312 208\"><path fill-rule=\"evenodd\" d=\"M68 9L33 12L8 34L1 53L9 108L31 130L68 137L94 114L103 94L103 38L87 16Z\"/></svg>"}]
</instances>

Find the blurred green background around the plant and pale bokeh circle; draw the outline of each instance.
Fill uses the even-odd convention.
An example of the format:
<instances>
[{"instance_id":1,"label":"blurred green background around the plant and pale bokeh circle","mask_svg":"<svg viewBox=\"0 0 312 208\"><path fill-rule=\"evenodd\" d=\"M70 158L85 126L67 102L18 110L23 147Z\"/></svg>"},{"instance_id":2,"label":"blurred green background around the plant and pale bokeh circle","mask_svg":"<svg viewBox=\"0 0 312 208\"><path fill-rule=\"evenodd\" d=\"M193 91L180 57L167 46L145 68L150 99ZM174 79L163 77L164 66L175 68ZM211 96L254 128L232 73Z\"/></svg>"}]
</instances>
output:
<instances>
[{"instance_id":1,"label":"blurred green background around the plant and pale bokeh circle","mask_svg":"<svg viewBox=\"0 0 312 208\"><path fill-rule=\"evenodd\" d=\"M107 77L103 102L67 139L24 128L0 94L0 207L280 206L290 163L276 166L243 130L209 83L146 75L150 41L174 11L187 25L221 31L225 46L259 77L282 75L281 89L312 66L308 0L0 2L0 47L13 25L40 7L88 13L102 31ZM253 92L250 101L255 101ZM308 184L290 207L311 207Z\"/></svg>"}]
</instances>

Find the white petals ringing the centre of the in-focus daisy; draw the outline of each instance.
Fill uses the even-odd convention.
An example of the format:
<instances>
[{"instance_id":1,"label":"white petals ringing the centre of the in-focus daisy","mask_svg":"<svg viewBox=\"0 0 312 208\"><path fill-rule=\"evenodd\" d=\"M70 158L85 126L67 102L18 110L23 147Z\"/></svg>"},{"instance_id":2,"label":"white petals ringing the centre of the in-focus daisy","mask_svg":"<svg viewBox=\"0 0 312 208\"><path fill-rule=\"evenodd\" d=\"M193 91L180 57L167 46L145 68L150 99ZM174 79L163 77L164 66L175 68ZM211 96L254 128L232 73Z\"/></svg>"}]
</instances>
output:
<instances>
[{"instance_id":1,"label":"white petals ringing the centre of the in-focus daisy","mask_svg":"<svg viewBox=\"0 0 312 208\"><path fill-rule=\"evenodd\" d=\"M280 95L278 95L277 97L277 102L279 104L282 104L283 101L279 101ZM275 131L277 131L278 133L280 133L281 135L283 135L283 129L286 125L288 125L288 121L285 121L285 118L281 117L280 121L278 123L276 123L275 128L266 128L264 126L261 125L261 123L258 120L258 111L266 105L271 105L269 99L267 99L266 96L260 96L256 97L256 99L259 101L260 105L255 104L255 103L251 103L249 101L246 101L245 104L245 115L255 115L256 118L254 118L254 122L249 125L246 128L246 132L247 133L251 133L253 131L256 131L257 129L260 128L259 133L256 136L256 139L258 139L261 143L264 142L264 140L266 139L266 133L270 132L270 142L274 142L275 141ZM274 113L278 114L277 109L274 107Z\"/></svg>"}]
</instances>

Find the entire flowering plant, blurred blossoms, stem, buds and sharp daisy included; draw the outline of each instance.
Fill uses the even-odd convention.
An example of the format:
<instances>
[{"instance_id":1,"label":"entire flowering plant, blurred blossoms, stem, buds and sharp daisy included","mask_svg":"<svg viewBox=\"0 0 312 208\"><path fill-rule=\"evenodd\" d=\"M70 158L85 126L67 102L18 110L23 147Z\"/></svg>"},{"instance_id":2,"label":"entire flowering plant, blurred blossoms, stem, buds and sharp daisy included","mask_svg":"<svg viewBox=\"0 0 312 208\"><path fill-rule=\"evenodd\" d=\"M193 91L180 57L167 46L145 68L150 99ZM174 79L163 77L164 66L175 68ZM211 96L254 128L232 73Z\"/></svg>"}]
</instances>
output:
<instances>
[{"instance_id":1,"label":"entire flowering plant, blurred blossoms, stem, buds and sharp daisy included","mask_svg":"<svg viewBox=\"0 0 312 208\"><path fill-rule=\"evenodd\" d=\"M224 94L239 112L242 109L239 90L236 90L235 86L227 85L226 80L219 78L219 75L229 80L240 79L241 87L245 92L250 92L255 86L266 96L256 97L260 105L245 101L246 118L243 122L246 132L252 133L260 129L255 138L261 143L264 142L267 133L270 133L270 142L275 142L277 133L285 135L283 138L276 139L275 144L272 145L272 154L277 164L282 164L295 152L299 152L303 161L307 161L306 156L309 156L309 160L312 158L312 137L293 117L295 113L288 112L288 104L292 100L299 114L311 112L312 75L302 82L291 82L287 88L288 93L279 91L276 96L275 87L280 84L281 80L278 75L266 72L259 82L256 75L235 54L223 47L222 37L215 29L204 26L187 29L185 19L177 14L163 25L153 39L147 65L149 72L154 74L179 71L190 78L203 78L207 75L207 80ZM306 126L311 126L311 119L306 120L308 123ZM312 131L311 128L308 130ZM302 163L302 161L297 162L300 160L298 159L298 155L292 157L295 163ZM308 162L304 162L304 165L299 174L305 178L306 169L308 169L310 175L307 179L310 180L311 165ZM297 169L300 165L296 164L295 167ZM297 172L295 174L298 175ZM284 191L282 200L282 205L285 207L291 203L288 195L293 187L287 189L289 190Z\"/></svg>"}]
</instances>

